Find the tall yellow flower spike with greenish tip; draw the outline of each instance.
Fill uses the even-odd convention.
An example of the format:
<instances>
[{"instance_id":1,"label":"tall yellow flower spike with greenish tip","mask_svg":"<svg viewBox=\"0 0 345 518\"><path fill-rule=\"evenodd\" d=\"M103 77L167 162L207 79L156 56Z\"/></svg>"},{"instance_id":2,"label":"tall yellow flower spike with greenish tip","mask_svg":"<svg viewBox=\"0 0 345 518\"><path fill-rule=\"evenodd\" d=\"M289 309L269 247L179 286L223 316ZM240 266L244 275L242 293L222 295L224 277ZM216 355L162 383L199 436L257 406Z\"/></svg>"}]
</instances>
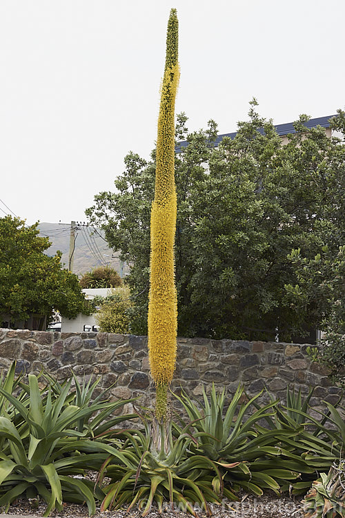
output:
<instances>
[{"instance_id":1,"label":"tall yellow flower spike with greenish tip","mask_svg":"<svg viewBox=\"0 0 345 518\"><path fill-rule=\"evenodd\" d=\"M168 386L176 361L177 296L174 242L175 97L179 82L177 11L172 9L166 36L166 64L161 86L157 135L155 200L151 211L150 294L148 301L148 356L156 385L156 416L166 418Z\"/></svg>"}]
</instances>

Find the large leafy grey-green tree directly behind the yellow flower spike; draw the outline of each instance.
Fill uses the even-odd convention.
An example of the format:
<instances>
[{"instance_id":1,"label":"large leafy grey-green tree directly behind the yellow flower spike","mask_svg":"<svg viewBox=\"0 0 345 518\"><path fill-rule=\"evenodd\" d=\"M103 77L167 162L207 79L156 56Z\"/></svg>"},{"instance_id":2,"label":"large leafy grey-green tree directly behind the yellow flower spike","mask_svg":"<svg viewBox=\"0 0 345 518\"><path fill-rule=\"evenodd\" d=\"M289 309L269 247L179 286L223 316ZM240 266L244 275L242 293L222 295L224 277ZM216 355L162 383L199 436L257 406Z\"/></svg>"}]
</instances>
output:
<instances>
[{"instance_id":1,"label":"large leafy grey-green tree directly behind the yellow flower spike","mask_svg":"<svg viewBox=\"0 0 345 518\"><path fill-rule=\"evenodd\" d=\"M312 297L297 311L288 286L298 284L298 268L288 256L299 249L312 260L344 242L344 145L324 128L306 128L305 115L284 145L255 104L236 137L217 148L215 122L188 133L186 116L177 117L177 139L188 141L175 160L181 336L289 340L331 311ZM335 124L345 133L342 112ZM96 195L86 213L132 265L131 329L146 333L155 152L150 162L129 153L125 164L117 191Z\"/></svg>"}]
</instances>

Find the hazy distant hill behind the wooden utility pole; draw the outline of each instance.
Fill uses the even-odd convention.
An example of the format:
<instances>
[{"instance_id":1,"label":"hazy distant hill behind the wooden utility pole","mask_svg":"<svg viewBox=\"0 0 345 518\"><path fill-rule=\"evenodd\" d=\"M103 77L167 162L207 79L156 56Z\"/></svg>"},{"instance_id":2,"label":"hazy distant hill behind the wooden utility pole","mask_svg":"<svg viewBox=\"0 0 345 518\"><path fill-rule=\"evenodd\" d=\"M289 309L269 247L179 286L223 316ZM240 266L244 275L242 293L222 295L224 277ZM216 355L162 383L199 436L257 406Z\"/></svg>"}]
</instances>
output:
<instances>
[{"instance_id":1,"label":"hazy distant hill behind the wooden utility pole","mask_svg":"<svg viewBox=\"0 0 345 518\"><path fill-rule=\"evenodd\" d=\"M41 236L48 236L52 245L46 253L54 256L57 250L62 252L61 262L68 267L68 253L70 249L70 225L59 223L39 223ZM75 251L73 260L73 273L81 276L86 271L100 265L109 265L121 274L121 262L118 253L113 253L104 240L101 230L93 227L75 227ZM115 256L113 258L112 256ZM124 273L128 272L125 267Z\"/></svg>"}]
</instances>

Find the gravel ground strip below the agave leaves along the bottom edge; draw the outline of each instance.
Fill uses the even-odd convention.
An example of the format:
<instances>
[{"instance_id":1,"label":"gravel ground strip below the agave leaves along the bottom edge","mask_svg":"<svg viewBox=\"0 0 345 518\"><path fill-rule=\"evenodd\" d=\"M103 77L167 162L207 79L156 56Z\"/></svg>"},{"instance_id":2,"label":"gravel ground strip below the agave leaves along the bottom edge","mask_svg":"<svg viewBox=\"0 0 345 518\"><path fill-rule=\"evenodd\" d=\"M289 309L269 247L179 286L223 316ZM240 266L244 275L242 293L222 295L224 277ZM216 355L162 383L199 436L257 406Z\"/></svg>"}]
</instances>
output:
<instances>
[{"instance_id":1,"label":"gravel ground strip below the agave leaves along the bottom edge","mask_svg":"<svg viewBox=\"0 0 345 518\"><path fill-rule=\"evenodd\" d=\"M16 505L10 506L9 515L32 515L42 516L46 505L39 504L38 508L33 508L28 501L18 501ZM289 497L277 498L274 494L266 494L261 498L253 495L242 495L239 502L224 500L221 506L211 505L210 510L215 518L303 518L300 499L290 499ZM200 518L206 518L206 513L196 509ZM50 515L55 518L86 518L88 508L74 503L63 505L62 511L53 511ZM147 515L148 518L190 518L191 515L179 510L166 508L163 514L152 508ZM141 513L137 508L133 508L127 514L126 509L117 511L100 512L97 508L95 517L97 518L140 518Z\"/></svg>"}]
</instances>

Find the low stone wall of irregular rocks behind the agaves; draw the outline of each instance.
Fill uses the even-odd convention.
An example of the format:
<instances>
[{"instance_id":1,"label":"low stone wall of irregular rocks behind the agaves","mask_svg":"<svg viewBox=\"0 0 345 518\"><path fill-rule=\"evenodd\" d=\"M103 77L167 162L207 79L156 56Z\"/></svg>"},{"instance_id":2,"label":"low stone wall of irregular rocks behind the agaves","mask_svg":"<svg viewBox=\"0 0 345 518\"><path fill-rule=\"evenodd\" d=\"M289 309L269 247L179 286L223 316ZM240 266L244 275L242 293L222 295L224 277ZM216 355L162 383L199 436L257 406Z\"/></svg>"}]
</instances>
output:
<instances>
[{"instance_id":1,"label":"low stone wall of irregular rocks behind the agaves","mask_svg":"<svg viewBox=\"0 0 345 518\"><path fill-rule=\"evenodd\" d=\"M311 406L322 409L322 400L336 403L340 394L332 387L327 371L311 363L306 344L248 342L178 338L178 360L172 388L200 396L214 382L233 394L239 383L250 395L267 387L283 401L286 387L294 383L307 393L315 387ZM97 390L113 398L141 396L138 403L150 405L155 392L150 378L146 336L107 333L57 333L0 329L0 368L17 360L17 372L39 374L44 369L58 379L73 370L82 380L97 378ZM113 386L112 386L113 385ZM109 390L109 387L110 390ZM268 395L262 395L268 401ZM130 409L126 409L130 410Z\"/></svg>"}]
</instances>

